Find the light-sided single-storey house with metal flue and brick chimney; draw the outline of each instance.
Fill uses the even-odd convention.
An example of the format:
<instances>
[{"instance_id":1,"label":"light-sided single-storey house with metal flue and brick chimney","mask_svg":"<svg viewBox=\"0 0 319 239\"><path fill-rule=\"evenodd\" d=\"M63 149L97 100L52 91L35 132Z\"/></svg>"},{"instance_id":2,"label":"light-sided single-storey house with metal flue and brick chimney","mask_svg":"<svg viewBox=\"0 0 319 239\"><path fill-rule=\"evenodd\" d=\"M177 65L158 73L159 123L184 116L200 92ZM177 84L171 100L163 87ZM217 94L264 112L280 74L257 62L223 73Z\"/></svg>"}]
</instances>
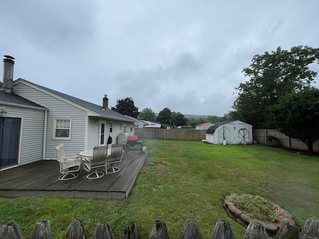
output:
<instances>
[{"instance_id":1,"label":"light-sided single-storey house with metal flue and brick chimney","mask_svg":"<svg viewBox=\"0 0 319 239\"><path fill-rule=\"evenodd\" d=\"M13 81L13 57L3 59L0 89L0 170L106 145L111 136L134 134L134 120L108 108L45 88L21 78Z\"/></svg>"}]
</instances>

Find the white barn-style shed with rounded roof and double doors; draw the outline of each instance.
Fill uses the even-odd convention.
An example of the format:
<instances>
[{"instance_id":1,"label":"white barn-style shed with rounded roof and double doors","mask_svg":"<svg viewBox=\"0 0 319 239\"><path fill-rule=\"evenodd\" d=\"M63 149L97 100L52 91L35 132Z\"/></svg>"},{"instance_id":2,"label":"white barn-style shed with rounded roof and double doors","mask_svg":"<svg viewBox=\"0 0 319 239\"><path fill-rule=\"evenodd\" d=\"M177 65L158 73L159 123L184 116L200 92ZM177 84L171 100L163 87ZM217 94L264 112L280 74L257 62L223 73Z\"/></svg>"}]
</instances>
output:
<instances>
[{"instance_id":1,"label":"white barn-style shed with rounded roof and double doors","mask_svg":"<svg viewBox=\"0 0 319 239\"><path fill-rule=\"evenodd\" d=\"M253 126L240 120L227 120L210 126L206 142L213 144L251 144Z\"/></svg>"}]
</instances>

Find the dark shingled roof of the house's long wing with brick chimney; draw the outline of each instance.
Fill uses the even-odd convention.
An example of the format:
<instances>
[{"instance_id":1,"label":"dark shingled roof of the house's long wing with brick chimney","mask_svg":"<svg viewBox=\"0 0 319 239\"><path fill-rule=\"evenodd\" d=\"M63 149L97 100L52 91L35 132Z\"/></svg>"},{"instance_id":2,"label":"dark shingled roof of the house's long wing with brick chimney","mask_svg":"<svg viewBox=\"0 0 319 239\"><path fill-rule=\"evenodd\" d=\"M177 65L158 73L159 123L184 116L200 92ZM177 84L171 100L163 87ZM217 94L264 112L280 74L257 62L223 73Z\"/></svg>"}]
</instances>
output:
<instances>
[{"instance_id":1,"label":"dark shingled roof of the house's long wing with brick chimney","mask_svg":"<svg viewBox=\"0 0 319 239\"><path fill-rule=\"evenodd\" d=\"M111 118L118 118L118 119L123 119L123 120L126 120L126 121L132 121L134 122L133 119L130 119L129 117L127 116L124 116L116 111L112 111L111 109L107 108L107 109L103 109L102 106L99 106L99 105L96 105L96 104L93 104L93 103L90 103L90 102L87 102L87 101L84 101L84 100L81 100L79 98L75 98L73 96L69 96L69 95L66 95L64 93L61 93L61 92L58 92L58 91L54 91L52 89L49 89L49 88L46 88L44 86L40 86L40 85L37 85L37 84L34 84L32 82L29 82L27 80L24 80L24 79L17 79L16 81L24 81L24 82L27 82L28 84L31 84L37 88L40 88L44 91L47 91L51 94L54 94L56 96L59 96L67 101L70 101L70 102L73 102L81 107L84 107L90 111L93 111L101 116L106 116L106 117L111 117ZM15 82L16 82L15 81Z\"/></svg>"}]
</instances>

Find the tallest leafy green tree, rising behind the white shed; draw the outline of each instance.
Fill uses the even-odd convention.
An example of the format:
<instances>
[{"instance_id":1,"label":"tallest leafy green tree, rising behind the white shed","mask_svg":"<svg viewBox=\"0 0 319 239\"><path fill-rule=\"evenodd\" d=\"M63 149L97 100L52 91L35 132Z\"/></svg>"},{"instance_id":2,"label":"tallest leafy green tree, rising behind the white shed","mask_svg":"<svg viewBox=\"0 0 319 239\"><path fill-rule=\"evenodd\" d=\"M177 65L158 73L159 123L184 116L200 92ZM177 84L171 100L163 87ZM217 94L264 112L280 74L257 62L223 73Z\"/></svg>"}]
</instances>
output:
<instances>
[{"instance_id":1,"label":"tallest leafy green tree, rising behind the white shed","mask_svg":"<svg viewBox=\"0 0 319 239\"><path fill-rule=\"evenodd\" d=\"M252 64L243 69L250 80L240 83L233 103L238 119L256 128L272 127L268 106L277 103L286 93L296 93L310 84L317 76L309 65L319 62L319 48L295 46L264 55L255 55Z\"/></svg>"}]
</instances>

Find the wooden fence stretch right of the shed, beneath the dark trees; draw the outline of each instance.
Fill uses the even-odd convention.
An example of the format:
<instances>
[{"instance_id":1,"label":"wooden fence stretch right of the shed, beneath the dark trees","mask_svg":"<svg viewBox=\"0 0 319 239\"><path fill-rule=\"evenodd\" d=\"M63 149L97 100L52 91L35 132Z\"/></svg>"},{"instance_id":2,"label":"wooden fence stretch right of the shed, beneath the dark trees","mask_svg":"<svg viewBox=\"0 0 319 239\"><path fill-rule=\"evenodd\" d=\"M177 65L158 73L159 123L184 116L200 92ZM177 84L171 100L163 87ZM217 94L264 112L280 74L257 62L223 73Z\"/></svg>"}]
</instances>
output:
<instances>
[{"instance_id":1,"label":"wooden fence stretch right of the shed, beneath the dark trees","mask_svg":"<svg viewBox=\"0 0 319 239\"><path fill-rule=\"evenodd\" d=\"M282 147L308 150L308 146L302 141L288 137L276 129L253 129L253 138L256 138L259 143L267 145L267 135L276 136L280 140L280 146ZM319 140L314 143L314 151L319 152Z\"/></svg>"}]
</instances>

